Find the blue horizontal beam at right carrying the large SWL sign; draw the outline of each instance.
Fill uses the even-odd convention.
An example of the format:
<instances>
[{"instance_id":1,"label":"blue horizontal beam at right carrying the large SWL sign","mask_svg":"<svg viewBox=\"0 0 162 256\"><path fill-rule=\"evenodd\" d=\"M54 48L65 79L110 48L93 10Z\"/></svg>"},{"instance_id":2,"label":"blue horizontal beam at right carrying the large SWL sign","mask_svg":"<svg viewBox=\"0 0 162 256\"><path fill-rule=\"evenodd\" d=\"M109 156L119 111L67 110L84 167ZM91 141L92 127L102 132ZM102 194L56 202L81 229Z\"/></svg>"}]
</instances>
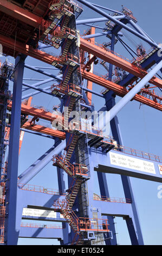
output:
<instances>
[{"instance_id":1,"label":"blue horizontal beam at right carrying the large SWL sign","mask_svg":"<svg viewBox=\"0 0 162 256\"><path fill-rule=\"evenodd\" d=\"M112 159L114 159L114 161ZM132 162L132 165L130 162ZM115 173L139 179L162 182L160 166L161 163L158 161L158 157L157 160L155 157L154 159L153 157L151 157L151 159L149 159L149 157L142 158L133 154L128 155L121 151L114 152L114 150L112 150L108 152L107 155L103 155L102 160L98 160L94 169L99 172Z\"/></svg>"}]
</instances>

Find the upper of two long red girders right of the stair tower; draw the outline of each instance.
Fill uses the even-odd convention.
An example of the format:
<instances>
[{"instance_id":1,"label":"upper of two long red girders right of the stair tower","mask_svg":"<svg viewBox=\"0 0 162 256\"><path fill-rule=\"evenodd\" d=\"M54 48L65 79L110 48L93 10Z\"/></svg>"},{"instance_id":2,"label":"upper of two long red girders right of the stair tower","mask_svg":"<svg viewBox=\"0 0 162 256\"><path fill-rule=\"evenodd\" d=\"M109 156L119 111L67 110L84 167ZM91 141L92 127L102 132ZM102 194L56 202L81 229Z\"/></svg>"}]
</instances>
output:
<instances>
[{"instance_id":1,"label":"upper of two long red girders right of the stair tower","mask_svg":"<svg viewBox=\"0 0 162 256\"><path fill-rule=\"evenodd\" d=\"M104 48L100 46L92 44L91 42L85 39L80 38L80 48L88 53L92 53L94 56L99 57L100 59L105 60L108 63L111 63L115 66L118 66L121 69L124 69L125 71L131 73L134 76L140 78L143 78L145 76L138 70L136 66L132 65L132 63L120 58L119 56L116 56L112 52L106 51ZM162 88L162 80L160 80L157 77L155 77L154 79L152 78L150 80L150 83Z\"/></svg>"}]
</instances>

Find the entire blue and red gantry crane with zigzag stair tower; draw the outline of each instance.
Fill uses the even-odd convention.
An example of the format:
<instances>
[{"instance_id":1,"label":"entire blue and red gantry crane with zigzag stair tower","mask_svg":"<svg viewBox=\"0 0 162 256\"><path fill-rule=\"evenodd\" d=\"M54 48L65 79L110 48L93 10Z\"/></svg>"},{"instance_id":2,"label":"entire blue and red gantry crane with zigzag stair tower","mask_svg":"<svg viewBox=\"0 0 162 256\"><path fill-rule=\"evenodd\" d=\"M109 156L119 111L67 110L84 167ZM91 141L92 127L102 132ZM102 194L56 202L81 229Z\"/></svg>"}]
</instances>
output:
<instances>
[{"instance_id":1,"label":"entire blue and red gantry crane with zigzag stair tower","mask_svg":"<svg viewBox=\"0 0 162 256\"><path fill-rule=\"evenodd\" d=\"M132 245L143 245L129 176L162 182L162 158L125 147L116 114L134 100L162 110L162 97L157 94L157 89L162 89L162 80L156 75L162 69L160 46L137 25L132 11L123 6L121 11L104 7L112 11L109 15L100 5L85 0L78 0L79 3L72 0L22 2L4 0L0 3L3 55L15 58L15 65L8 60L2 64L0 74L0 243L16 245L18 237L37 237L35 231L39 228L41 238L57 238L61 245L116 245L114 217L122 216ZM103 17L78 20L83 11L80 3ZM80 34L79 25L103 21L104 27L89 25L91 28ZM95 28L102 29L102 33L95 33ZM151 50L146 51L142 45L133 50L121 39L122 29L144 40ZM94 39L100 35L105 35L109 41L96 43ZM114 47L120 42L128 52L134 53L132 60L115 52ZM48 47L56 54L44 50ZM51 65L59 70L59 75L26 64L28 56ZM94 64L101 64L107 74L95 74ZM24 68L50 78L34 85L24 83ZM14 82L12 92L9 82ZM50 82L50 86L41 89L39 86L46 82ZM92 83L104 90L95 92ZM28 89L34 92L22 96ZM32 105L32 96L38 93L56 97L60 104L54 106L53 111ZM100 115L87 117L88 112L92 114L95 110L92 94L105 99L107 119L103 124ZM115 104L116 95L121 97L118 104ZM78 113L75 119L73 111ZM50 127L41 123L42 120L48 121ZM105 132L108 124L112 136ZM55 139L55 144L18 175L18 155L24 132ZM28 184L49 162L53 163L51 168L57 168L59 191ZM93 191L95 171L100 195ZM64 185L65 173L68 188ZM109 197L106 173L121 175L125 198ZM21 224L22 217L60 221L62 227Z\"/></svg>"}]
</instances>

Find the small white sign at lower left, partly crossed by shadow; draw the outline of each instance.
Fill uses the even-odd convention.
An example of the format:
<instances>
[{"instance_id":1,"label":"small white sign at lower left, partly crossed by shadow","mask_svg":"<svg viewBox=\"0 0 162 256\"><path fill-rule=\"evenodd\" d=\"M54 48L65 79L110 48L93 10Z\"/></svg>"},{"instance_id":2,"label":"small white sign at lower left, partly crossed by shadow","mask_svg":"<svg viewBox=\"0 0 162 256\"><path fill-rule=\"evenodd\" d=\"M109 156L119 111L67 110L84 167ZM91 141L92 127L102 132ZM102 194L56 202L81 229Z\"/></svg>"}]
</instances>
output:
<instances>
[{"instance_id":1,"label":"small white sign at lower left, partly crossed by shadow","mask_svg":"<svg viewBox=\"0 0 162 256\"><path fill-rule=\"evenodd\" d=\"M47 210L23 208L23 216L56 218L56 212L47 211Z\"/></svg>"}]
</instances>

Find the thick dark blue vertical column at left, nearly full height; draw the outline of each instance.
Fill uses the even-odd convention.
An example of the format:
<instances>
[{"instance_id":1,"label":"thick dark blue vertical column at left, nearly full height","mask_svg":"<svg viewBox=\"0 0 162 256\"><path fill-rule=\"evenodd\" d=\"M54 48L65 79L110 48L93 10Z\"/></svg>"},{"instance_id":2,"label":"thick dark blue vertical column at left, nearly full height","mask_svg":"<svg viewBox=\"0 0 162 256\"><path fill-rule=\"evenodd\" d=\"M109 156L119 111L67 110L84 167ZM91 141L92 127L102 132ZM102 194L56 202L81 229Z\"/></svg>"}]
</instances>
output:
<instances>
[{"instance_id":1,"label":"thick dark blue vertical column at left, nearly full height","mask_svg":"<svg viewBox=\"0 0 162 256\"><path fill-rule=\"evenodd\" d=\"M7 191L5 198L5 243L7 243L7 245L17 245L18 239L18 233L16 231L17 176L21 124L22 81L25 58L26 56L21 54L15 60L15 77L12 95L8 174L6 182Z\"/></svg>"}]
</instances>

